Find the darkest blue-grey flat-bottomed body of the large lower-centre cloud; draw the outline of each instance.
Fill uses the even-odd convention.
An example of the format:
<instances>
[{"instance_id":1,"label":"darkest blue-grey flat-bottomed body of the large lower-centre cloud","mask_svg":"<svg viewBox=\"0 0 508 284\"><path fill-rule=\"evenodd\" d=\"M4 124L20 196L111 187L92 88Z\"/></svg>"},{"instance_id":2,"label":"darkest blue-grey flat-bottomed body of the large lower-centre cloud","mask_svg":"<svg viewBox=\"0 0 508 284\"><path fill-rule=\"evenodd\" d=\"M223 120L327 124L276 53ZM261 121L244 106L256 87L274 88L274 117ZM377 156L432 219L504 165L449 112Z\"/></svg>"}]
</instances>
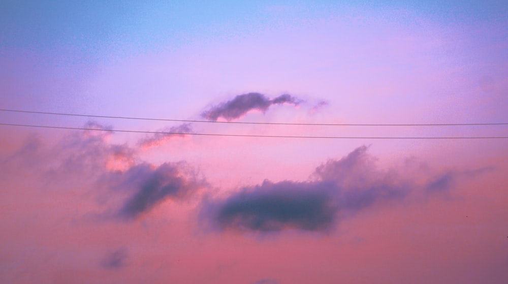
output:
<instances>
[{"instance_id":1,"label":"darkest blue-grey flat-bottomed body of the large lower-centre cloud","mask_svg":"<svg viewBox=\"0 0 508 284\"><path fill-rule=\"evenodd\" d=\"M337 207L328 190L331 184L283 181L244 190L219 204L215 221L220 229L255 231L328 228Z\"/></svg>"}]
</instances>

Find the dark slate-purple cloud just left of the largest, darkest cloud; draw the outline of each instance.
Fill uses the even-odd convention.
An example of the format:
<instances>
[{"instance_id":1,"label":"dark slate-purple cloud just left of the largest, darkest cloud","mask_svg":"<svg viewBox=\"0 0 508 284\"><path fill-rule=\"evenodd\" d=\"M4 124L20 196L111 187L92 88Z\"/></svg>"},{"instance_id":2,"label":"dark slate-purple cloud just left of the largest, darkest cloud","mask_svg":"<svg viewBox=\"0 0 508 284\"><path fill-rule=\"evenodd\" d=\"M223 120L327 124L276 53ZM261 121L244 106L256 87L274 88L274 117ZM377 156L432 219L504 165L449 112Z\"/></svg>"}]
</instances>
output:
<instances>
[{"instance_id":1,"label":"dark slate-purple cloud just left of the largest, darkest cloud","mask_svg":"<svg viewBox=\"0 0 508 284\"><path fill-rule=\"evenodd\" d=\"M184 199L205 184L183 162L158 167L139 164L124 172L111 173L108 179L113 187L129 192L117 212L125 219L135 219L167 199Z\"/></svg>"}]
</instances>

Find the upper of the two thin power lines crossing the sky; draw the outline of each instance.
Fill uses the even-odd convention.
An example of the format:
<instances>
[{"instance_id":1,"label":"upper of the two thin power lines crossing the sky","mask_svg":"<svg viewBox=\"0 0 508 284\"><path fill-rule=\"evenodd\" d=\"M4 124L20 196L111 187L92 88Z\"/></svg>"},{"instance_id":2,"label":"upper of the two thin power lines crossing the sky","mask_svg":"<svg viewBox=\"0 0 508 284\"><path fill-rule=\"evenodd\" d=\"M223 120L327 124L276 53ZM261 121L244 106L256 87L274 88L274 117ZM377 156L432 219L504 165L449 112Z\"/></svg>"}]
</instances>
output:
<instances>
[{"instance_id":1,"label":"upper of the two thin power lines crossing the sky","mask_svg":"<svg viewBox=\"0 0 508 284\"><path fill-rule=\"evenodd\" d=\"M467 126L467 125L508 125L508 122L486 122L486 123L394 123L394 124L376 124L376 123L284 123L284 122L243 122L243 121L211 121L211 120L189 120L189 119L164 119L164 118L145 118L145 117L127 117L127 116L109 116L109 115L91 115L74 114L59 112L43 112L28 110L0 109L0 111L39 113L51 115L67 115L82 117L100 117L100 118L120 118L137 120L158 120L158 121L178 121L178 122L206 122L206 123L236 123L236 124L272 124L272 125L321 125L321 126Z\"/></svg>"}]
</instances>

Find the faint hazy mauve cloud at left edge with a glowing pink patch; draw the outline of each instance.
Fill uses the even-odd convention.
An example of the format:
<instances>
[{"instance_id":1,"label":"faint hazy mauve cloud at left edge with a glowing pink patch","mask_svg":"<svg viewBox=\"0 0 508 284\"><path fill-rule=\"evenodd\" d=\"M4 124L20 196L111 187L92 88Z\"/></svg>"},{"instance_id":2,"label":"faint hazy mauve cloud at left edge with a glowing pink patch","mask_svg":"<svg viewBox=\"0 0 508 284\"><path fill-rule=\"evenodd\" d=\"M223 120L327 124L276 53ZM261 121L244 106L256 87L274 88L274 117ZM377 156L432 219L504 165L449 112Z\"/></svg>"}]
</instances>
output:
<instances>
[{"instance_id":1,"label":"faint hazy mauve cloud at left edge with a glowing pink patch","mask_svg":"<svg viewBox=\"0 0 508 284\"><path fill-rule=\"evenodd\" d=\"M85 128L111 129L89 121ZM29 135L20 149L0 159L6 169L22 169L40 175L53 183L92 180L107 170L120 170L135 164L136 150L126 144L108 142L110 131L70 131L61 139L46 139L43 135Z\"/></svg>"}]
</instances>

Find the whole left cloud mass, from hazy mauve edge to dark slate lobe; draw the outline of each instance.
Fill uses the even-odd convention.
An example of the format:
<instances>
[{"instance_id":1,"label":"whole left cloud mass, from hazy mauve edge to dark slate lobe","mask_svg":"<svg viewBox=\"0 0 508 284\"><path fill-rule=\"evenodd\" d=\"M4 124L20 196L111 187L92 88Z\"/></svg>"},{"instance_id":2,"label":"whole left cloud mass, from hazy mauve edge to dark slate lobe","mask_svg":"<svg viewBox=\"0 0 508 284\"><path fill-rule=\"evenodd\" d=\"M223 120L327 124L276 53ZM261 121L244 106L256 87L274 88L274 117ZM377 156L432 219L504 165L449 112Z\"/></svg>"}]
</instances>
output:
<instances>
[{"instance_id":1,"label":"whole left cloud mass, from hazy mauve edge to dark slate lobe","mask_svg":"<svg viewBox=\"0 0 508 284\"><path fill-rule=\"evenodd\" d=\"M89 122L98 129L108 129ZM126 144L111 144L105 135L92 131L72 133L48 145L48 140L30 136L20 149L0 159L8 171L3 176L32 174L49 188L93 188L98 201L107 206L107 215L136 219L158 204L184 200L205 186L203 178L185 162L159 166L139 160L138 150ZM93 134L93 133L92 133Z\"/></svg>"}]
</instances>

